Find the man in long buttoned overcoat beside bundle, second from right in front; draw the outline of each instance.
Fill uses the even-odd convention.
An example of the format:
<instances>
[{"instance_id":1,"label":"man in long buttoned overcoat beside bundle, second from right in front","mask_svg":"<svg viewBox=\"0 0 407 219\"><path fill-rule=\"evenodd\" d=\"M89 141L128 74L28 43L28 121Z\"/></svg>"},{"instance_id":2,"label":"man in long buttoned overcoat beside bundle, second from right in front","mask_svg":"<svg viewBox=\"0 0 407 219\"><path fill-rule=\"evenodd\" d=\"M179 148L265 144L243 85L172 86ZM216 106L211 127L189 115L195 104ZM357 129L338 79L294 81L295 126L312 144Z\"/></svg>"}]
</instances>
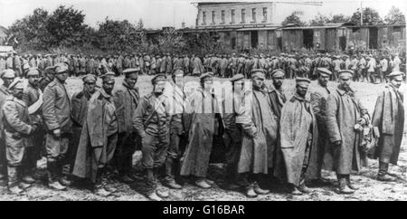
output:
<instances>
[{"instance_id":1,"label":"man in long buttoned overcoat beside bundle, second from right in front","mask_svg":"<svg viewBox=\"0 0 407 219\"><path fill-rule=\"evenodd\" d=\"M339 71L339 85L327 98L326 123L333 159L327 161L327 170L336 171L340 194L352 194L357 189L351 183L350 173L361 169L360 133L354 129L358 119L368 116L367 109L356 96L350 84L353 71Z\"/></svg>"}]
</instances>

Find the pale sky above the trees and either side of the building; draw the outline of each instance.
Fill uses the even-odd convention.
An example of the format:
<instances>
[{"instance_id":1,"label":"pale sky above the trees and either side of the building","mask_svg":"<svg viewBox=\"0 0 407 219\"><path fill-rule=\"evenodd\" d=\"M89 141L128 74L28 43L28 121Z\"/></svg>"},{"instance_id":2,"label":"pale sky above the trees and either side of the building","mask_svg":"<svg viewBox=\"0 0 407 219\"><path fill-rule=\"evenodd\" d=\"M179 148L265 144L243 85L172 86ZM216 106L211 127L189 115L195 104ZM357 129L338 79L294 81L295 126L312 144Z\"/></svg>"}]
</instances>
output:
<instances>
[{"instance_id":1,"label":"pale sky above the trees and either side of the building","mask_svg":"<svg viewBox=\"0 0 407 219\"><path fill-rule=\"evenodd\" d=\"M124 20L134 24L141 18L146 28L161 28L163 26L181 27L185 22L187 27L194 27L197 8L194 2L200 0L0 0L0 25L8 27L17 19L22 19L38 7L52 12L58 5L73 5L85 14L85 24L96 27L108 16L110 19ZM211 0L209 0L211 1ZM219 1L219 0L218 0ZM229 0L222 0L227 2ZM265 0L258 0L264 2ZM276 0L297 1L298 0ZM328 14L352 15L360 7L360 0L307 0L322 2L322 12ZM206 0L205 2L208 2ZM216 1L213 1L216 2ZM236 0L232 1L236 2ZM256 2L256 1L251 1ZM273 2L273 1L270 1ZM405 0L364 0L363 7L373 7L384 17L392 5L400 8L405 14Z\"/></svg>"}]
</instances>

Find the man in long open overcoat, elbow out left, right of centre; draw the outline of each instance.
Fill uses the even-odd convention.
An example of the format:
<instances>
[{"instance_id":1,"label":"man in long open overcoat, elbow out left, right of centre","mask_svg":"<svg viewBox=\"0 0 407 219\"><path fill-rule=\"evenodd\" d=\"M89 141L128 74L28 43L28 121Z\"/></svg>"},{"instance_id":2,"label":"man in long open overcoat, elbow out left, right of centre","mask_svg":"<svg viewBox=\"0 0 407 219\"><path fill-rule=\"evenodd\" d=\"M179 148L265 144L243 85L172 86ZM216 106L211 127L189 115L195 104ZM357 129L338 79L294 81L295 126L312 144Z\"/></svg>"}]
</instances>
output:
<instances>
[{"instance_id":1,"label":"man in long open overcoat, elbow out left, right of centre","mask_svg":"<svg viewBox=\"0 0 407 219\"><path fill-rule=\"evenodd\" d=\"M251 71L251 104L245 104L236 118L243 132L238 173L248 197L269 193L260 188L259 182L261 174L272 173L274 160L271 155L277 146L278 119L271 109L269 93L264 90L264 80L264 70Z\"/></svg>"}]
</instances>

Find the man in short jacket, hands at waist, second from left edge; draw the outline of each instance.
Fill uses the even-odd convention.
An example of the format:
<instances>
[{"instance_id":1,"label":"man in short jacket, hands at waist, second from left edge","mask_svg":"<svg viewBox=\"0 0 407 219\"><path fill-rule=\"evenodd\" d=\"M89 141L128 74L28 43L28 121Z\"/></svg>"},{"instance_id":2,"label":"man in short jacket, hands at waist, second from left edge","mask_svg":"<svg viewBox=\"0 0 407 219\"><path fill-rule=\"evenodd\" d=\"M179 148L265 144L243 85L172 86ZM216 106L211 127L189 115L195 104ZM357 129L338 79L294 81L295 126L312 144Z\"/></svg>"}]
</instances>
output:
<instances>
[{"instance_id":1,"label":"man in short jacket, hands at waist, second from left edge","mask_svg":"<svg viewBox=\"0 0 407 219\"><path fill-rule=\"evenodd\" d=\"M2 123L5 126L5 155L7 158L8 189L13 194L19 194L30 185L21 181L24 176L24 157L29 153L29 137L37 129L30 121L28 109L23 101L23 81L17 80L8 86L12 93L2 107Z\"/></svg>"}]
</instances>

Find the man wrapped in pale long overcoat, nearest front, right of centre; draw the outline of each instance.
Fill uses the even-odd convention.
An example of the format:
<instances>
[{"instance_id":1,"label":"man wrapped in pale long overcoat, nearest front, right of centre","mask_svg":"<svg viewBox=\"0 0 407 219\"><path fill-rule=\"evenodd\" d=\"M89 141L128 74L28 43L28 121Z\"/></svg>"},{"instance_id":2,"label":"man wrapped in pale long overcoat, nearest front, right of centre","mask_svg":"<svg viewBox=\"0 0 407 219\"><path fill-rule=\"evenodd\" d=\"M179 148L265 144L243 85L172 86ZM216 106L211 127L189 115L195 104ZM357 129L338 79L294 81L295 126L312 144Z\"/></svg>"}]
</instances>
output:
<instances>
[{"instance_id":1,"label":"man wrapped in pale long overcoat, nearest front, right of centre","mask_svg":"<svg viewBox=\"0 0 407 219\"><path fill-rule=\"evenodd\" d=\"M281 109L280 141L291 194L309 193L306 178L317 177L317 119L306 94L311 81L297 78L297 91Z\"/></svg>"}]
</instances>

